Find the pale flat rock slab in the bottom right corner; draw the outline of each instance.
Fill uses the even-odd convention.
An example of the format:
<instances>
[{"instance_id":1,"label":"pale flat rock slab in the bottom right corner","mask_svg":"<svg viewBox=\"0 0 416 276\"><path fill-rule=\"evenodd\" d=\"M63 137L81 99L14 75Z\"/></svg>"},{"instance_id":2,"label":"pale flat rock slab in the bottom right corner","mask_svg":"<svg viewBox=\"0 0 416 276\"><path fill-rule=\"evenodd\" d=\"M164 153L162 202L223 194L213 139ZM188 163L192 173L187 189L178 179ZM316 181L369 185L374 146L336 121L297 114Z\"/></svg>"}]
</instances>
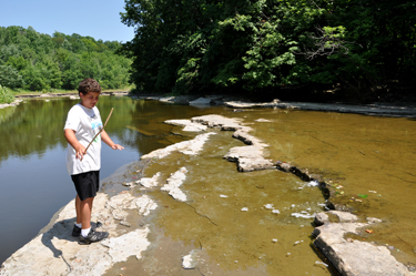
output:
<instances>
[{"instance_id":1,"label":"pale flat rock slab in the bottom right corner","mask_svg":"<svg viewBox=\"0 0 416 276\"><path fill-rule=\"evenodd\" d=\"M338 222L329 222L327 214L338 217ZM415 276L405 265L397 262L386 246L345 238L345 234L359 234L363 227L369 227L379 219L368 217L366 223L358 223L358 217L347 212L329 211L318 213L315 224L321 225L312 233L316 237L314 244L341 275L347 276Z\"/></svg>"}]
</instances>

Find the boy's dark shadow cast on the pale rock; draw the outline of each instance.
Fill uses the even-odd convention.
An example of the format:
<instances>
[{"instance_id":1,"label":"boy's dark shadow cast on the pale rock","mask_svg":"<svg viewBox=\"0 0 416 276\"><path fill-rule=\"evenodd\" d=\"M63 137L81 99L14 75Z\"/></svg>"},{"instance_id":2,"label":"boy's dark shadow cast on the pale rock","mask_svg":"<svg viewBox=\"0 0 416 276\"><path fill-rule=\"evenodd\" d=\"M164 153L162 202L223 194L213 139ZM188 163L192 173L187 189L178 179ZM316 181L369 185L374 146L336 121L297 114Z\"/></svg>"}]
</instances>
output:
<instances>
[{"instance_id":1,"label":"boy's dark shadow cast on the pale rock","mask_svg":"<svg viewBox=\"0 0 416 276\"><path fill-rule=\"evenodd\" d=\"M49 249L51 249L51 252L53 253L53 257L62 258L62 260L67 264L69 270L71 270L71 265L63 256L62 251L58 249L53 245L52 241L54 238L64 239L64 241L73 243L74 245L77 244L78 246L79 237L72 236L72 229L73 229L74 224L75 224L75 218L67 218L67 219L54 223L53 225L51 225L50 228L47 226L40 233L42 235L41 237L42 244L47 246ZM91 226L97 227L99 225L97 225L97 223L91 222Z\"/></svg>"}]
</instances>

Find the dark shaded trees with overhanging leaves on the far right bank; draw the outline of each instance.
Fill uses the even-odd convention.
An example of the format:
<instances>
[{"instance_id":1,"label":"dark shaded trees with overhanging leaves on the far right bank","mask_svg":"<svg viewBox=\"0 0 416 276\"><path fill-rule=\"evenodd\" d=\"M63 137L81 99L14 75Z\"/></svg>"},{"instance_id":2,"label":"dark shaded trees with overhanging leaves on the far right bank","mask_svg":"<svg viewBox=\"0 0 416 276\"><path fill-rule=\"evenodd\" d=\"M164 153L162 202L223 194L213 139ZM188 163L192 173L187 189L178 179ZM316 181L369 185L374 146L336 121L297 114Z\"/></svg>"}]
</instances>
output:
<instances>
[{"instance_id":1,"label":"dark shaded trees with overhanging leaves on the far right bank","mask_svg":"<svg viewBox=\"0 0 416 276\"><path fill-rule=\"evenodd\" d=\"M416 82L415 3L125 0L136 34L123 51L146 92L404 95Z\"/></svg>"}]
</instances>

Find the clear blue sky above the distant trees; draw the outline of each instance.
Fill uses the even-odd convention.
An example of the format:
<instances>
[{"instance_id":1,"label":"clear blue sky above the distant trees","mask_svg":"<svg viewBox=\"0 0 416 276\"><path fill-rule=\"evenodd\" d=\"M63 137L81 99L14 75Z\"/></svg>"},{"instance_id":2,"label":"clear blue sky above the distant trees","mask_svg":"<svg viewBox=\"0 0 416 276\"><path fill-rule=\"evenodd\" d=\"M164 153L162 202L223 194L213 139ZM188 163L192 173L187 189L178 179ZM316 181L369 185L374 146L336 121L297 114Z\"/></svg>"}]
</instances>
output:
<instances>
[{"instance_id":1,"label":"clear blue sky above the distant trees","mask_svg":"<svg viewBox=\"0 0 416 276\"><path fill-rule=\"evenodd\" d=\"M123 24L124 0L3 0L0 3L0 27L33 27L52 35L78 33L95 40L126 42L134 28Z\"/></svg>"}]
</instances>

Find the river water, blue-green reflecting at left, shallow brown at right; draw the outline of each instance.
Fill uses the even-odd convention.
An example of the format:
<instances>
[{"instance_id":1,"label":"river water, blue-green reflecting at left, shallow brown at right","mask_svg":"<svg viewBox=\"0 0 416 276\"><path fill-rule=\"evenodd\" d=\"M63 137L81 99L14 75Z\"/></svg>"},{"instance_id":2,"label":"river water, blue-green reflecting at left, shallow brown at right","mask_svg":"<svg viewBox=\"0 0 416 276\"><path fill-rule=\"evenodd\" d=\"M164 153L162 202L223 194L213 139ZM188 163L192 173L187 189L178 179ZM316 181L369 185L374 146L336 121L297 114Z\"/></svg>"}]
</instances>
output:
<instances>
[{"instance_id":1,"label":"river water, blue-green reflecting at left, shallow brown at right","mask_svg":"<svg viewBox=\"0 0 416 276\"><path fill-rule=\"evenodd\" d=\"M0 217L6 222L0 234L7 237L0 239L0 262L33 238L74 197L64 167L62 131L74 103L77 100L69 99L30 100L0 110ZM204 114L240 117L254 129L254 136L270 144L271 159L323 175L338 187L335 203L363 217L384 221L373 234L359 238L389 244L397 259L415 262L416 174L412 168L416 127L410 119L272 109L233 112L223 106L200 109L115 96L101 96L98 106L103 119L114 108L108 132L125 147L118 152L103 146L101 175L106 192L116 190L106 178L116 168L194 136L163 121ZM154 229L164 236L158 243L170 244L171 253L203 246L206 263L217 265L217 275L329 275L311 245L313 218L307 217L323 209L319 190L276 170L239 173L235 163L222 156L242 142L231 139L231 132L215 132L202 157L185 161L192 172L187 178L192 185L186 186L192 207L214 224L203 224L203 217L195 217L189 206L153 192L164 206L152 218ZM179 159L172 155L152 165L145 176L173 172ZM271 212L268 204L278 213ZM158 258L154 251L150 253L155 256L153 263L129 260L129 267L148 275L145 272L177 266L176 259L166 260L172 254ZM180 265L177 269L182 269Z\"/></svg>"}]
</instances>

